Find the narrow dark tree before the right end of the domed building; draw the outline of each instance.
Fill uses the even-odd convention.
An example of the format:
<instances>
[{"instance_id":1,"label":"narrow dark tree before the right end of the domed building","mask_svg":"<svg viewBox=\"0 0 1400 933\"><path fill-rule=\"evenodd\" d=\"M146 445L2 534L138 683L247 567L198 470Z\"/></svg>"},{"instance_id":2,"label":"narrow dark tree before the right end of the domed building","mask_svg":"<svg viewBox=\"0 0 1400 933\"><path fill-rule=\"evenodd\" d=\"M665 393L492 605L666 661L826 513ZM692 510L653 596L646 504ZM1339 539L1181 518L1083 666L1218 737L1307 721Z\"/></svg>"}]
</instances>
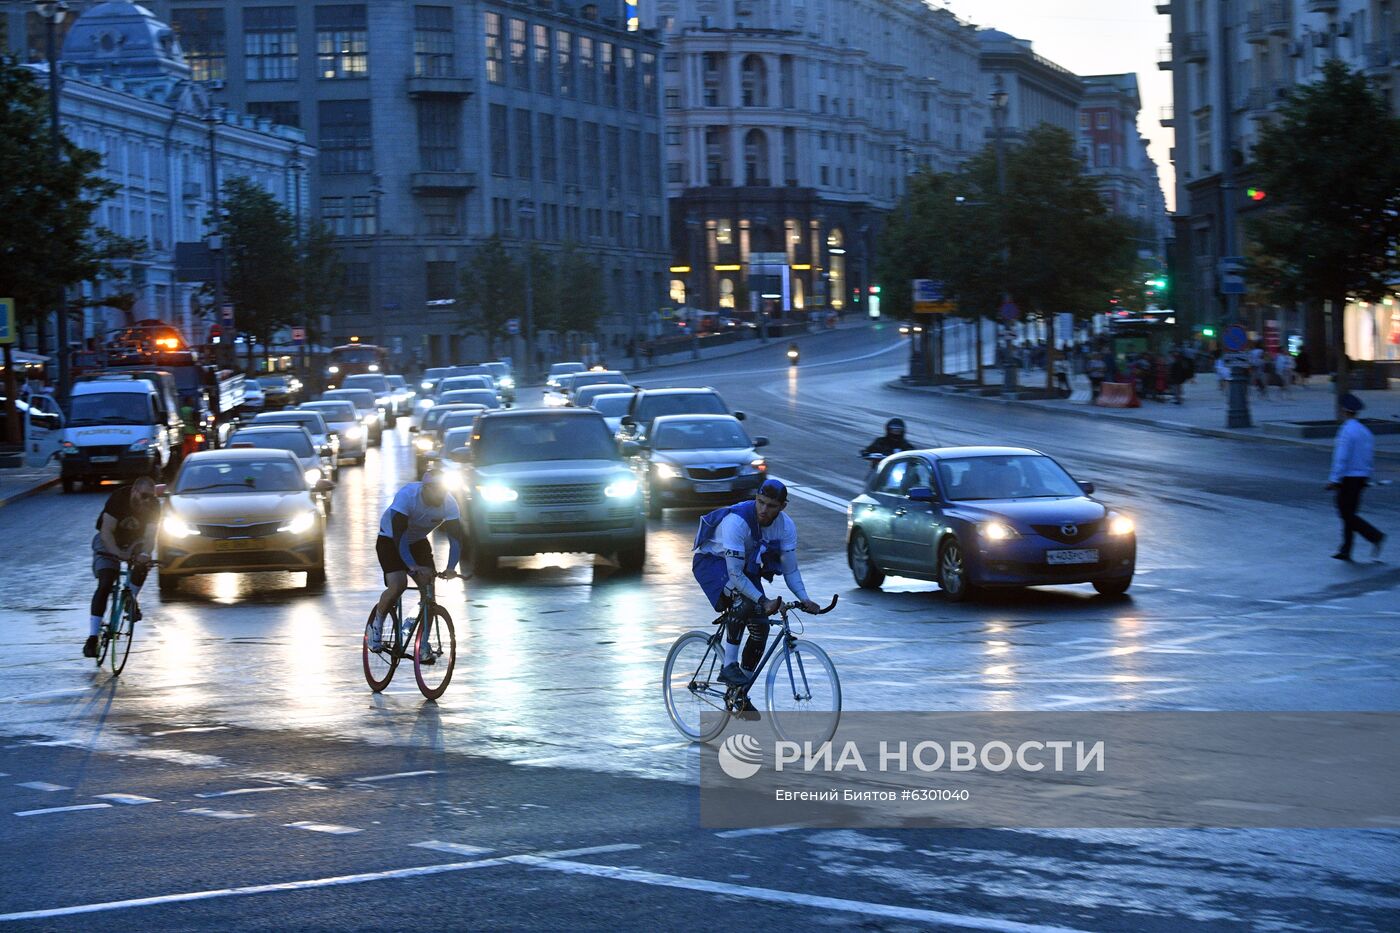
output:
<instances>
[{"instance_id":1,"label":"narrow dark tree before the right end of the domed building","mask_svg":"<svg viewBox=\"0 0 1400 933\"><path fill-rule=\"evenodd\" d=\"M297 249L297 223L272 192L248 178L224 182L214 228L224 238L224 289L238 326L262 342L265 352L279 328L298 321L304 280ZM253 366L252 342L248 367Z\"/></svg>"}]
</instances>

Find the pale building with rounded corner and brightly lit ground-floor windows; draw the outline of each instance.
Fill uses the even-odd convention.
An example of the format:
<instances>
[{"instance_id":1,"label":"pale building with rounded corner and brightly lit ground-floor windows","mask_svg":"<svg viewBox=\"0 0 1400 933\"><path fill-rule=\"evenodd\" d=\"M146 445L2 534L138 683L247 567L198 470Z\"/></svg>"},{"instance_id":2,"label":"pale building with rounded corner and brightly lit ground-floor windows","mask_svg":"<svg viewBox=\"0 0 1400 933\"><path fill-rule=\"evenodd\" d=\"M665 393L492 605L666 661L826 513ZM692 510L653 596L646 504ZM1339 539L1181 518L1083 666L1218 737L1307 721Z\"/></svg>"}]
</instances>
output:
<instances>
[{"instance_id":1,"label":"pale building with rounded corner and brightly lit ground-floor windows","mask_svg":"<svg viewBox=\"0 0 1400 933\"><path fill-rule=\"evenodd\" d=\"M850 310L907 175L983 144L976 29L946 10L657 0L643 22L665 39L673 304Z\"/></svg>"}]
</instances>

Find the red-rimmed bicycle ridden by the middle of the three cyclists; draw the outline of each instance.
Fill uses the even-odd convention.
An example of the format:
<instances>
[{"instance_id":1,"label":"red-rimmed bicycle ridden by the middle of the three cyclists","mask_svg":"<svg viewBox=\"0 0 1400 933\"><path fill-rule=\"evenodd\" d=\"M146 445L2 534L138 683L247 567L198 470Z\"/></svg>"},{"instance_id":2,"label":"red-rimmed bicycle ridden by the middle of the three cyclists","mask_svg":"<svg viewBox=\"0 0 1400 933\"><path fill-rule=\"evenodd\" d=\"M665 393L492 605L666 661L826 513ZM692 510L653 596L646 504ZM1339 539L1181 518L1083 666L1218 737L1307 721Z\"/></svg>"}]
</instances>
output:
<instances>
[{"instance_id":1,"label":"red-rimmed bicycle ridden by the middle of the three cyclists","mask_svg":"<svg viewBox=\"0 0 1400 933\"><path fill-rule=\"evenodd\" d=\"M451 580L454 573L434 574L440 580ZM447 685L452 681L452 668L456 665L456 630L452 628L452 616L437 604L431 581L424 587L410 586L407 593L420 593L419 614L413 622L403 629L399 621L403 618L403 597L400 595L389 618L384 619L379 635L381 647L370 647L370 635L374 626L374 609L370 609L370 619L364 625L364 643L361 646L361 660L364 663L364 679L370 682L370 689L379 693L393 679L393 672L399 668L399 661L409 658L409 646L413 651L413 678L419 682L423 696L435 700L442 696ZM424 619L431 619L431 625ZM424 639L427 650L424 651Z\"/></svg>"}]
</instances>

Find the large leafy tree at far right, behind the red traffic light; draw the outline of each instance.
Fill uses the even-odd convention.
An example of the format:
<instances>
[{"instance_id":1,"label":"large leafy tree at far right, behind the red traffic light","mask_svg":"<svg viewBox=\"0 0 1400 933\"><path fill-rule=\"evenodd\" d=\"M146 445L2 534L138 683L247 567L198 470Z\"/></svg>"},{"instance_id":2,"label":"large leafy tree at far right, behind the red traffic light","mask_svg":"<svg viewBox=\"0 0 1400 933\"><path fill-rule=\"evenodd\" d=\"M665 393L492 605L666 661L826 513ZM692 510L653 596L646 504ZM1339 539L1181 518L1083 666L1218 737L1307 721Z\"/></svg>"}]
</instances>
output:
<instances>
[{"instance_id":1,"label":"large leafy tree at far right, behind the red traffic light","mask_svg":"<svg viewBox=\"0 0 1400 933\"><path fill-rule=\"evenodd\" d=\"M1326 329L1322 303L1331 305L1338 396L1347 391L1347 301L1379 301L1397 272L1397 137L1400 119L1385 98L1333 59L1320 81L1288 94L1254 146L1250 172L1271 206L1247 224L1266 258L1252 270L1267 276L1275 301L1309 303L1313 346Z\"/></svg>"}]
</instances>

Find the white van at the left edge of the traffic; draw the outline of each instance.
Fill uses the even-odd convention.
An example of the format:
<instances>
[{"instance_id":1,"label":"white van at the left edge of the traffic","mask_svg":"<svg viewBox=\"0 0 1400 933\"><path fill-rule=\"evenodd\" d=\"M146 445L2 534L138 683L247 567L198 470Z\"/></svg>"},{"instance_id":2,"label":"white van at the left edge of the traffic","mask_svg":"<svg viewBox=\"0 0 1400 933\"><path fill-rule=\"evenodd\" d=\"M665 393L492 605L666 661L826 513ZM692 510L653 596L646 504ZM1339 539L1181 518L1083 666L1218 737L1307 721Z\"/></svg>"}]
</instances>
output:
<instances>
[{"instance_id":1,"label":"white van at the left edge of the traffic","mask_svg":"<svg viewBox=\"0 0 1400 933\"><path fill-rule=\"evenodd\" d=\"M76 382L59 445L63 492L102 479L157 481L179 458L179 412L147 380Z\"/></svg>"}]
</instances>

